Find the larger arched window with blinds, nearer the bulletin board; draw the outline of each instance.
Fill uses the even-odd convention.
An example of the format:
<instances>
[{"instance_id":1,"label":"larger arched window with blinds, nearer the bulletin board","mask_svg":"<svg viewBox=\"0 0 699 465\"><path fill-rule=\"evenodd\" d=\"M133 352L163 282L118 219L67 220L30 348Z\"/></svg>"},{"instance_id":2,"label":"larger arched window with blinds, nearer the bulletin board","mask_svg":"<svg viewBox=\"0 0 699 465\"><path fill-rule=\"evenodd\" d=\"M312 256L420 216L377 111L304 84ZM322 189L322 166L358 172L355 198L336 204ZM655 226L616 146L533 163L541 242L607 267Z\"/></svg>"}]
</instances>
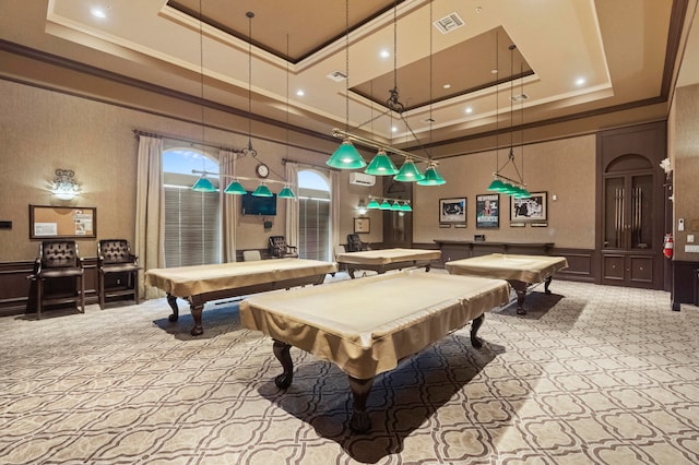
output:
<instances>
[{"instance_id":1,"label":"larger arched window with blinds, nearer the bulletin board","mask_svg":"<svg viewBox=\"0 0 699 465\"><path fill-rule=\"evenodd\" d=\"M191 148L163 152L165 266L221 263L221 210L216 192L196 192L192 170L218 172L218 163ZM218 178L209 178L218 187Z\"/></svg>"}]
</instances>

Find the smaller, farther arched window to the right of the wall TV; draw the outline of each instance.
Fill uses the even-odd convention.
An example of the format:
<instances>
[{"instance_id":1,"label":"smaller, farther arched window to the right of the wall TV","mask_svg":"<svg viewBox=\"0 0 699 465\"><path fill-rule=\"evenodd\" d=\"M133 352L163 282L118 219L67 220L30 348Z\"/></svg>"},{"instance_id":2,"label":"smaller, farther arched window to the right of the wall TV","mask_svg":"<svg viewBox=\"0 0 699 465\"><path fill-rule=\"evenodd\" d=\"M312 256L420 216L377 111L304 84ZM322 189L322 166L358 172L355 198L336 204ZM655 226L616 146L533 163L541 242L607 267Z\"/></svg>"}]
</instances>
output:
<instances>
[{"instance_id":1,"label":"smaller, farther arched window to the right of the wall TV","mask_svg":"<svg viewBox=\"0 0 699 465\"><path fill-rule=\"evenodd\" d=\"M331 261L330 182L312 169L298 171L299 257Z\"/></svg>"}]
</instances>

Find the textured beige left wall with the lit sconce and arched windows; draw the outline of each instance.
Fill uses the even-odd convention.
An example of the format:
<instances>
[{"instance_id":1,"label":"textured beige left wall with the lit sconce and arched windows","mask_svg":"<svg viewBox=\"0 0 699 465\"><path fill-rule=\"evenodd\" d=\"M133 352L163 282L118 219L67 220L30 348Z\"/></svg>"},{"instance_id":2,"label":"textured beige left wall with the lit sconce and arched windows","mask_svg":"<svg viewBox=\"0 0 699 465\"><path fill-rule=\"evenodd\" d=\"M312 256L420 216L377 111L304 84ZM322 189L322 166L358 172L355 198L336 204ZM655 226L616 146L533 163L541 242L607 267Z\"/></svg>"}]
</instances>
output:
<instances>
[{"instance_id":1,"label":"textured beige left wall with the lit sconce and arched windows","mask_svg":"<svg viewBox=\"0 0 699 465\"><path fill-rule=\"evenodd\" d=\"M12 229L0 229L0 262L36 258L39 242L29 240L29 204L95 206L97 239L123 237L133 242L138 151L133 130L202 140L198 124L10 81L0 80L0 220L12 222ZM242 147L248 138L208 128L204 141ZM260 158L281 175L285 156L315 164L325 159L317 152L294 147L287 152L265 140L253 139L253 145ZM215 156L216 150L208 153ZM253 177L254 166L244 158L239 174ZM51 195L48 189L57 168L75 171L80 196L66 202ZM259 217L240 215L237 248L265 248L270 235L284 234L284 212L280 202L271 229L264 229ZM342 223L351 225L352 216L343 211ZM79 240L81 255L95 257L97 239Z\"/></svg>"}]
</instances>

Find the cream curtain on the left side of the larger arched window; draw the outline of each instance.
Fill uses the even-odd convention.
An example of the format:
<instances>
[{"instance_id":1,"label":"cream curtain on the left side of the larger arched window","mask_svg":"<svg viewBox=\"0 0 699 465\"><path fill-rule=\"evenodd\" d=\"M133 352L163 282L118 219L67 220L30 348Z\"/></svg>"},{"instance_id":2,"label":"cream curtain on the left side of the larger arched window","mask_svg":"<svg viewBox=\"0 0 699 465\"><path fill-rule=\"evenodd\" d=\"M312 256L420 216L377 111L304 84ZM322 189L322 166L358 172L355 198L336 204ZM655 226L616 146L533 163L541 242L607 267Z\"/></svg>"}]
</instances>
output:
<instances>
[{"instance_id":1,"label":"cream curtain on the left side of the larger arched window","mask_svg":"<svg viewBox=\"0 0 699 465\"><path fill-rule=\"evenodd\" d=\"M147 286L144 271L165 267L165 199L163 194L163 140L139 134L135 202L135 254L142 267L139 294L145 299L165 296Z\"/></svg>"}]
</instances>

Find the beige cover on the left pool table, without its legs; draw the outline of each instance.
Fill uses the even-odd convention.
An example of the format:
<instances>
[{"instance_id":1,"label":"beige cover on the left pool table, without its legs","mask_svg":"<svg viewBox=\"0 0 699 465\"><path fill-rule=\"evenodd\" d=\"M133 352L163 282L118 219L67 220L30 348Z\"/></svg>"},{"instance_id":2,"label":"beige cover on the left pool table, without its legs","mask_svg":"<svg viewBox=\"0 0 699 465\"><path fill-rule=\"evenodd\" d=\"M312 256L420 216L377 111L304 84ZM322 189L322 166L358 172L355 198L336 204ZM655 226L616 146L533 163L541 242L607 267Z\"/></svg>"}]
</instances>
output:
<instances>
[{"instance_id":1,"label":"beige cover on the left pool table, without its legs","mask_svg":"<svg viewBox=\"0 0 699 465\"><path fill-rule=\"evenodd\" d=\"M189 297L221 289L235 289L282 279L334 273L336 263L305 259L257 260L252 262L149 270L147 283L176 297Z\"/></svg>"}]
</instances>

